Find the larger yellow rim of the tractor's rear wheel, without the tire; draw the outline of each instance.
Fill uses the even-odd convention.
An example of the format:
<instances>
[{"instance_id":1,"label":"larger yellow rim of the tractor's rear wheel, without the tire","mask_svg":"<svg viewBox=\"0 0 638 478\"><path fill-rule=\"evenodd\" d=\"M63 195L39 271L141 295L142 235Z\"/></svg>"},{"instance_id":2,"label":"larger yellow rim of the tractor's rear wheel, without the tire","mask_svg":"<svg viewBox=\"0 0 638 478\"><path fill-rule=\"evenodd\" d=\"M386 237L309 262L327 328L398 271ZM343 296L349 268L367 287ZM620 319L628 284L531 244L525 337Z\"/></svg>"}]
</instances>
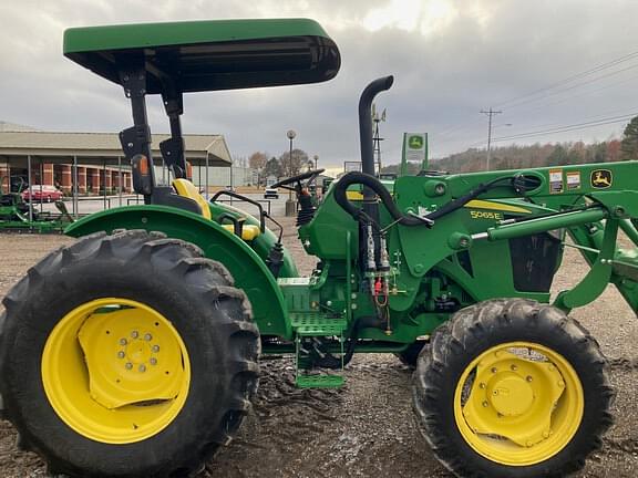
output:
<instances>
[{"instance_id":1,"label":"larger yellow rim of the tractor's rear wheel, without the tire","mask_svg":"<svg viewBox=\"0 0 638 478\"><path fill-rule=\"evenodd\" d=\"M42 354L51 406L86 438L130 444L166 428L186 402L191 363L173 324L128 299L105 298L69 312Z\"/></svg>"}]
</instances>

